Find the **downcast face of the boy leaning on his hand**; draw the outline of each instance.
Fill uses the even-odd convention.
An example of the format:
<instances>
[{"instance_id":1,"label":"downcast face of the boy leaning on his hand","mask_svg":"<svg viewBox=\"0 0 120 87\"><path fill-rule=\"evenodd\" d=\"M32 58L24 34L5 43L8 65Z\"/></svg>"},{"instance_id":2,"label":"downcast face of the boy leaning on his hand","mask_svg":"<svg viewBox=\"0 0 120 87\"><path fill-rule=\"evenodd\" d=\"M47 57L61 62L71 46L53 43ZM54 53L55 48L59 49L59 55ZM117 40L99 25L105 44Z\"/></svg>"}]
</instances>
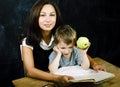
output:
<instances>
[{"instance_id":1,"label":"downcast face of the boy leaning on his hand","mask_svg":"<svg viewBox=\"0 0 120 87\"><path fill-rule=\"evenodd\" d=\"M67 45L63 41L60 41L57 46L61 51L62 55L64 56L64 58L70 58L74 47L72 43Z\"/></svg>"}]
</instances>

